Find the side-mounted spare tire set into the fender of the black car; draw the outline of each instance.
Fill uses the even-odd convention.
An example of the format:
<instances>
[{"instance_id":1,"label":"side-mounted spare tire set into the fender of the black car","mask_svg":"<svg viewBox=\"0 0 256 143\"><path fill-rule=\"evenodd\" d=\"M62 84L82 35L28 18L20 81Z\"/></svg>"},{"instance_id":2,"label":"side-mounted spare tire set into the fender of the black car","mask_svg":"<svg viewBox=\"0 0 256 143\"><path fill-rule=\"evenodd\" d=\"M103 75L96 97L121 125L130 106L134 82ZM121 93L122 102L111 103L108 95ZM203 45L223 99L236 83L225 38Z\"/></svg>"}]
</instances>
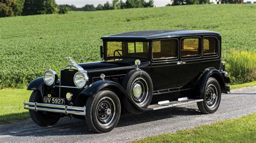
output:
<instances>
[{"instance_id":1,"label":"side-mounted spare tire set into the fender of the black car","mask_svg":"<svg viewBox=\"0 0 256 143\"><path fill-rule=\"evenodd\" d=\"M122 86L134 103L140 108L147 108L153 96L153 83L144 70L132 70L124 78ZM136 86L138 88L136 88ZM139 88L141 91L139 91ZM138 90L137 90L138 89ZM138 91L138 92L136 92Z\"/></svg>"}]
</instances>

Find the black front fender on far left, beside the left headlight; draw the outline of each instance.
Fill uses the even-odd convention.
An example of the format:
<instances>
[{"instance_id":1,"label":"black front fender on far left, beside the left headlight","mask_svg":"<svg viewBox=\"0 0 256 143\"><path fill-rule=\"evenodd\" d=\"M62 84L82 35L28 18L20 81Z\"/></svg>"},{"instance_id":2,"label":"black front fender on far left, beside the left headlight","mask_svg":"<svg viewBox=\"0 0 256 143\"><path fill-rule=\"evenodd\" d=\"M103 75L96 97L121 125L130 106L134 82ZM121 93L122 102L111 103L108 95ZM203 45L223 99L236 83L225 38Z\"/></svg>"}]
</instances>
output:
<instances>
[{"instance_id":1,"label":"black front fender on far left, beside the left headlight","mask_svg":"<svg viewBox=\"0 0 256 143\"><path fill-rule=\"evenodd\" d=\"M28 88L26 90L39 90L41 95L44 94L44 78L43 77L38 77L36 80L33 80L32 82L29 83Z\"/></svg>"}]
</instances>

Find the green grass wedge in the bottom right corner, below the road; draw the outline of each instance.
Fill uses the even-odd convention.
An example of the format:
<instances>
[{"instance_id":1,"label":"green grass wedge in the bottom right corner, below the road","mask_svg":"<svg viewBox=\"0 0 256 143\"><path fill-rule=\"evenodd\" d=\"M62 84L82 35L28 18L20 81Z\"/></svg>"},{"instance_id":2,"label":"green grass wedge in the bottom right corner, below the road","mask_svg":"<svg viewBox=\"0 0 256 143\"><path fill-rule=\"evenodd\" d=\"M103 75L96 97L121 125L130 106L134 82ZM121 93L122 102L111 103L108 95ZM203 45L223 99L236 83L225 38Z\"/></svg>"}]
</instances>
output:
<instances>
[{"instance_id":1,"label":"green grass wedge in the bottom right corner, below the road","mask_svg":"<svg viewBox=\"0 0 256 143\"><path fill-rule=\"evenodd\" d=\"M134 142L255 142L256 113Z\"/></svg>"}]
</instances>

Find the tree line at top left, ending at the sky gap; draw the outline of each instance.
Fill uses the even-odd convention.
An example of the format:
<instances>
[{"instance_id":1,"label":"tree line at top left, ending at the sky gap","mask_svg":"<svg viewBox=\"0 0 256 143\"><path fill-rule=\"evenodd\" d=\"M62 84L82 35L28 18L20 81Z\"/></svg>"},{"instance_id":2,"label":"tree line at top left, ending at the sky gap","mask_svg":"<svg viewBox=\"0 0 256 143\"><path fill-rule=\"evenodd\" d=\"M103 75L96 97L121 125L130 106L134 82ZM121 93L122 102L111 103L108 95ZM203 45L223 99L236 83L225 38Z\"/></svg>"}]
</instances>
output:
<instances>
[{"instance_id":1,"label":"tree line at top left, ending at the sky gap","mask_svg":"<svg viewBox=\"0 0 256 143\"><path fill-rule=\"evenodd\" d=\"M82 8L75 5L57 5L55 0L0 0L0 17L43 15L51 13L67 13L72 11L96 11L130 8L153 7L154 2L150 0L113 0L112 3L106 2L99 4L96 8L92 4L86 4Z\"/></svg>"}]
</instances>

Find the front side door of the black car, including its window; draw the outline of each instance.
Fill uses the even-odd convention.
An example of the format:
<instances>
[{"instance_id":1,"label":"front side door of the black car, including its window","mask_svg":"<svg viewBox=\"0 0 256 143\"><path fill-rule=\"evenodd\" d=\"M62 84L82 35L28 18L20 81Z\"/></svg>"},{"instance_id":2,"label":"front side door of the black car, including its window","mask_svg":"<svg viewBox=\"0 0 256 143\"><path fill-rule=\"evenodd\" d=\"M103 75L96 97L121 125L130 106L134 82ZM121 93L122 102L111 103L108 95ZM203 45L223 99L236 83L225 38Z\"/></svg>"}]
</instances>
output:
<instances>
[{"instance_id":1,"label":"front side door of the black car, including its window","mask_svg":"<svg viewBox=\"0 0 256 143\"><path fill-rule=\"evenodd\" d=\"M178 45L178 39L152 41L152 66L150 73L154 91L177 87Z\"/></svg>"}]
</instances>

